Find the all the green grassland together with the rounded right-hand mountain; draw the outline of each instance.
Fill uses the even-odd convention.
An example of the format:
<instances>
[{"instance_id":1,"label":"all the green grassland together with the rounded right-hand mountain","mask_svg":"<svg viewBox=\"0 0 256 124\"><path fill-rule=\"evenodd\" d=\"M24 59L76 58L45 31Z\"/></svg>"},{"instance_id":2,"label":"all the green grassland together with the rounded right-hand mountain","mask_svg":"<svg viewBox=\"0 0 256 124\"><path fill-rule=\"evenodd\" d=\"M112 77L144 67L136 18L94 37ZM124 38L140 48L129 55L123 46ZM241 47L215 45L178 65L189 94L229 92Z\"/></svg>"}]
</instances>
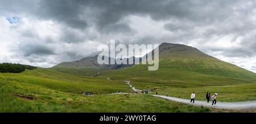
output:
<instances>
[{"instance_id":1,"label":"all the green grassland together with the rounded right-hand mountain","mask_svg":"<svg viewBox=\"0 0 256 124\"><path fill-rule=\"evenodd\" d=\"M196 48L164 43L159 46L158 71L148 65L122 69L37 68L0 73L0 111L5 112L210 112L223 111L179 104L150 94L133 94L124 80L154 94L218 101L256 100L256 75L206 55ZM87 60L85 60L87 61ZM92 77L95 73L100 75ZM113 80L108 80L108 78ZM92 92L93 96L84 96ZM110 94L125 92L129 94ZM230 110L229 110L230 111ZM254 111L254 110L251 110Z\"/></svg>"}]
</instances>

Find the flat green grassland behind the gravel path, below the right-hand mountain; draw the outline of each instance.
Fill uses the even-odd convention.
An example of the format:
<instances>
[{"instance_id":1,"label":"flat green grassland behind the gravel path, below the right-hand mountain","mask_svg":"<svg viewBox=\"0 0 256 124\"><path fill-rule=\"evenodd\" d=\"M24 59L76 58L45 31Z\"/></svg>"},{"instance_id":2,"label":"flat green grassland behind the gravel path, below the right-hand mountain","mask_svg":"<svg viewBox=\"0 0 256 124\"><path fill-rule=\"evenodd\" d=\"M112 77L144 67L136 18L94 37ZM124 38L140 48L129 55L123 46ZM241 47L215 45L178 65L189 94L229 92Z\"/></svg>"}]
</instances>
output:
<instances>
[{"instance_id":1,"label":"flat green grassland behind the gravel path, below the right-hand mountain","mask_svg":"<svg viewBox=\"0 0 256 124\"><path fill-rule=\"evenodd\" d=\"M134 73L136 71L122 71L121 73ZM145 74L146 73L146 74ZM166 76L160 75L166 74ZM188 74L190 73L190 74ZM160 94L169 92L170 96L188 98L195 91L197 100L205 100L207 91L219 94L218 101L250 101L256 100L256 83L242 78L225 78L217 76L201 75L195 72L159 71L143 72L136 74L115 75L115 72L106 74L116 80L131 80L137 89L149 89ZM148 76L144 76L148 75ZM190 80L188 79L190 78Z\"/></svg>"}]
</instances>

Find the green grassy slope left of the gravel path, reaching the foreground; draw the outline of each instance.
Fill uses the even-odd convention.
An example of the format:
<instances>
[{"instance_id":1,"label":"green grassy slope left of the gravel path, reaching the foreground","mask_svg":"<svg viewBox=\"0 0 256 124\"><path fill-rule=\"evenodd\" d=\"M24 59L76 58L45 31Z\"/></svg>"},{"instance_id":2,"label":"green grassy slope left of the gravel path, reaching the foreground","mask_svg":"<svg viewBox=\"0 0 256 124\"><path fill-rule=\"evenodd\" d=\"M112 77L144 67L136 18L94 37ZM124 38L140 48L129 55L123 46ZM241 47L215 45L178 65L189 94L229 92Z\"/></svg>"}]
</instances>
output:
<instances>
[{"instance_id":1,"label":"green grassy slope left of the gravel path, reaching the foreground","mask_svg":"<svg viewBox=\"0 0 256 124\"><path fill-rule=\"evenodd\" d=\"M131 92L125 82L105 77L68 75L55 69L0 73L1 112L209 112L221 111L179 104ZM98 93L83 96L83 92Z\"/></svg>"}]
</instances>

